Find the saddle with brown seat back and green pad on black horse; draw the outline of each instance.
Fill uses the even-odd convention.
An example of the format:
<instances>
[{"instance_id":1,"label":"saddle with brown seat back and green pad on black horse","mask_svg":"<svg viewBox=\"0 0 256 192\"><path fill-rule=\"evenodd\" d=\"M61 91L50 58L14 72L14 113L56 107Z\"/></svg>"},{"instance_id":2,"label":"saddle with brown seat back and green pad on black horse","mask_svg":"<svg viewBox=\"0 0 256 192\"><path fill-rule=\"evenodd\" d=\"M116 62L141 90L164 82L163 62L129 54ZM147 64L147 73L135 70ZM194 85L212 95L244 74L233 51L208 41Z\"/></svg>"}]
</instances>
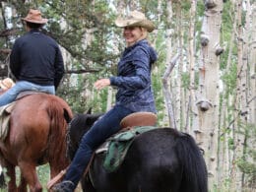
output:
<instances>
[{"instance_id":1,"label":"saddle with brown seat back and green pad on black horse","mask_svg":"<svg viewBox=\"0 0 256 192\"><path fill-rule=\"evenodd\" d=\"M114 134L96 150L105 153L103 167L107 172L116 170L124 160L136 136L156 129L157 115L152 112L135 112L122 119L121 131Z\"/></svg>"}]
</instances>

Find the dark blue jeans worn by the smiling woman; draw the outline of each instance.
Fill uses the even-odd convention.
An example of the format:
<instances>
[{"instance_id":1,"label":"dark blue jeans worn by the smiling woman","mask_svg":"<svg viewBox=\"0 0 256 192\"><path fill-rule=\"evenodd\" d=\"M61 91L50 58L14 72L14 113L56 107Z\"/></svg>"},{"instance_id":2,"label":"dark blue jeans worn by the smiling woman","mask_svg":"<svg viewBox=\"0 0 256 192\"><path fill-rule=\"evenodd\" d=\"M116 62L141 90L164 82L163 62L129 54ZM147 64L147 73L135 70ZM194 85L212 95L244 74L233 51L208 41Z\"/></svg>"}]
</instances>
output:
<instances>
[{"instance_id":1,"label":"dark blue jeans worn by the smiling woman","mask_svg":"<svg viewBox=\"0 0 256 192\"><path fill-rule=\"evenodd\" d=\"M75 158L72 160L65 180L72 181L75 186L78 185L86 167L91 160L91 157L96 150L107 138L118 132L122 118L132 113L133 111L121 106L115 105L112 109L100 117L93 127L83 136L79 149L76 152Z\"/></svg>"}]
</instances>

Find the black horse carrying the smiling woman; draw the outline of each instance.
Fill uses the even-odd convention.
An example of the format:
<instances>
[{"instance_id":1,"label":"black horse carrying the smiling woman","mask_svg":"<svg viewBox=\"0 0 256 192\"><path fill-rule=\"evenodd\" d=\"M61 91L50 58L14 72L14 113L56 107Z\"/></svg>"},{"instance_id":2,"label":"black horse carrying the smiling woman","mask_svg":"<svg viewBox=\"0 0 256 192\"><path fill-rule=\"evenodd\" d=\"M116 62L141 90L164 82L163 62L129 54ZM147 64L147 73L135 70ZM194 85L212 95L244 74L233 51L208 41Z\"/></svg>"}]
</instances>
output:
<instances>
[{"instance_id":1,"label":"black horse carrying the smiling woman","mask_svg":"<svg viewBox=\"0 0 256 192\"><path fill-rule=\"evenodd\" d=\"M78 114L70 122L69 156L74 158L83 134L99 115ZM102 166L105 154L96 154L90 176L81 180L86 192L207 192L207 168L194 139L171 128L137 136L125 160L114 172Z\"/></svg>"}]
</instances>

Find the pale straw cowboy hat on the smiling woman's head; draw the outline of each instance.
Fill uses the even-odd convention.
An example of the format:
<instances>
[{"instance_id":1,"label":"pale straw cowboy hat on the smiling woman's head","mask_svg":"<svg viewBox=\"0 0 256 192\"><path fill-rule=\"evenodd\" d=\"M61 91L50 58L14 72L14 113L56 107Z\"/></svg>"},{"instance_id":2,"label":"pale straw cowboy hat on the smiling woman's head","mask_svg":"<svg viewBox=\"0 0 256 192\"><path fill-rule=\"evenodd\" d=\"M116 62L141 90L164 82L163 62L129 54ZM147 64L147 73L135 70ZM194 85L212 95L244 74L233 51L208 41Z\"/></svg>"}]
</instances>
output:
<instances>
[{"instance_id":1,"label":"pale straw cowboy hat on the smiling woman's head","mask_svg":"<svg viewBox=\"0 0 256 192\"><path fill-rule=\"evenodd\" d=\"M115 20L115 25L119 28L125 27L142 27L147 29L148 32L153 32L155 26L153 22L148 20L145 15L139 11L132 11L126 18L118 17Z\"/></svg>"}]
</instances>

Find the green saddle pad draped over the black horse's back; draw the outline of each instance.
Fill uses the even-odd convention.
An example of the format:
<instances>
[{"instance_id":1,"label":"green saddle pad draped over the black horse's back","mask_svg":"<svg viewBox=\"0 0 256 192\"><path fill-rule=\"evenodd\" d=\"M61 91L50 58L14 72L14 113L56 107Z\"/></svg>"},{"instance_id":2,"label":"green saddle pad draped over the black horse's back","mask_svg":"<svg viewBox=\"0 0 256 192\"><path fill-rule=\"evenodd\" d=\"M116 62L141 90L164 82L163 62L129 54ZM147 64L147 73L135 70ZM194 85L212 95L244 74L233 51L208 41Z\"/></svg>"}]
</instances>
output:
<instances>
[{"instance_id":1,"label":"green saddle pad draped over the black horse's back","mask_svg":"<svg viewBox=\"0 0 256 192\"><path fill-rule=\"evenodd\" d=\"M129 147L133 143L136 136L141 133L157 129L153 126L134 127L128 131L117 133L110 137L107 142L108 149L103 162L103 167L107 172L116 170L124 160Z\"/></svg>"}]
</instances>

